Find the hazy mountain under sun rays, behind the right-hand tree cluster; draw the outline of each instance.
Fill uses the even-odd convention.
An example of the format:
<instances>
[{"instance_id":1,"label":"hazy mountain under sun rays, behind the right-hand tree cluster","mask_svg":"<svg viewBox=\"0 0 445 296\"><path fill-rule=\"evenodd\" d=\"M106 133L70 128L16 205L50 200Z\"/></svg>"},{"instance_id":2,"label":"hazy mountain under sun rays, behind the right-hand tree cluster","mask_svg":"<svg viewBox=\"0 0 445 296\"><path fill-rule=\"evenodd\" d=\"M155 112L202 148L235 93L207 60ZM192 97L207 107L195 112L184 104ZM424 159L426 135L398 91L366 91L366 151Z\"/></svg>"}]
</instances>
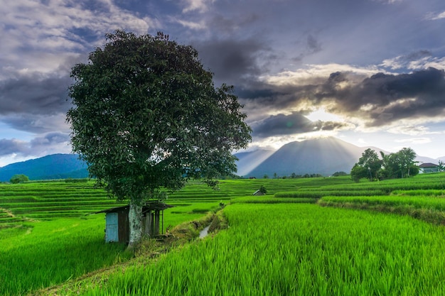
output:
<instances>
[{"instance_id":1,"label":"hazy mountain under sun rays, behind the right-hand tree cluster","mask_svg":"<svg viewBox=\"0 0 445 296\"><path fill-rule=\"evenodd\" d=\"M237 175L245 177L273 177L321 174L332 175L334 172L349 173L358 162L363 151L371 148L379 154L385 150L376 147L358 147L338 138L318 138L301 142L291 142L279 148L274 153L259 150L235 154L238 161ZM432 158L418 156L422 163L436 163Z\"/></svg>"}]
</instances>

